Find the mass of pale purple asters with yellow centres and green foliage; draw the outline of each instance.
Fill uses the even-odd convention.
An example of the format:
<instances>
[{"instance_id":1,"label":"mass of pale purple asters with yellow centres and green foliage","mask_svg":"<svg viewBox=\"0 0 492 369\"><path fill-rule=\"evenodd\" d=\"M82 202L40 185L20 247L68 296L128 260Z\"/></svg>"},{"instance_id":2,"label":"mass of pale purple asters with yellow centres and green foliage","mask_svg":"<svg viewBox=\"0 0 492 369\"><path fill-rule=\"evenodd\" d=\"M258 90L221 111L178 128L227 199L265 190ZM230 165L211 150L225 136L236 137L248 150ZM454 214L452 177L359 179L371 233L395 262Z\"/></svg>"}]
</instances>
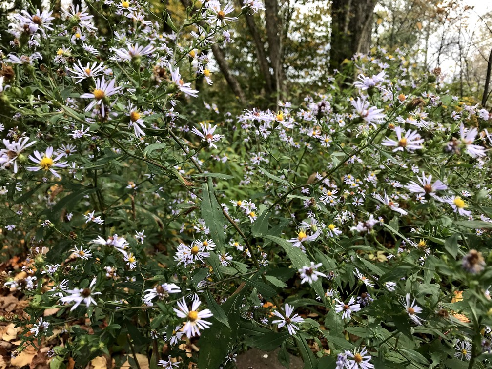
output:
<instances>
[{"instance_id":1,"label":"mass of pale purple asters with yellow centres and green foliage","mask_svg":"<svg viewBox=\"0 0 492 369\"><path fill-rule=\"evenodd\" d=\"M378 49L325 94L220 112L196 87L214 82L206 51L261 1L195 1L181 24L88 5L16 14L1 55L0 237L25 257L2 293L29 301L1 317L24 329L13 356L490 365L487 110Z\"/></svg>"}]
</instances>

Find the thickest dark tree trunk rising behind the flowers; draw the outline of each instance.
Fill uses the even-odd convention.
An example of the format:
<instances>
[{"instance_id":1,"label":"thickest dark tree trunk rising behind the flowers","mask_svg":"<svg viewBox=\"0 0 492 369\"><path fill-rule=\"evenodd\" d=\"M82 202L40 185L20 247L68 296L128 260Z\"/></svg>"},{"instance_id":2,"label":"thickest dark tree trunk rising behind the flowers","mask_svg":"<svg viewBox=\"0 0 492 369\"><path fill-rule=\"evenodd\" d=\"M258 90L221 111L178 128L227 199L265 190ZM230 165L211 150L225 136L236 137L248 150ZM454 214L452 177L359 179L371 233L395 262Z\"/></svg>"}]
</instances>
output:
<instances>
[{"instance_id":1,"label":"thickest dark tree trunk rising behind the flowers","mask_svg":"<svg viewBox=\"0 0 492 369\"><path fill-rule=\"evenodd\" d=\"M333 0L330 70L356 53L368 53L377 0Z\"/></svg>"}]
</instances>

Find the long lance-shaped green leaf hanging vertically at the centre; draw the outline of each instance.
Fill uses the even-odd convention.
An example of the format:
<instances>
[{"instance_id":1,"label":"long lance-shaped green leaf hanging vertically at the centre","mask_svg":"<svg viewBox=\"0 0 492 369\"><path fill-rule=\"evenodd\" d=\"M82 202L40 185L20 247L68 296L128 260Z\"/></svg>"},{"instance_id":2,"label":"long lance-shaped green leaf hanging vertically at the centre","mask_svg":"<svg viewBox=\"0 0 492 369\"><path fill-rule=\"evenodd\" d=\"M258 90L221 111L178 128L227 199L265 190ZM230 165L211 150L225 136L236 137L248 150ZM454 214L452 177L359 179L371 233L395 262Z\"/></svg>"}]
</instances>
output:
<instances>
[{"instance_id":1,"label":"long lance-shaped green leaf hanging vertically at the centre","mask_svg":"<svg viewBox=\"0 0 492 369\"><path fill-rule=\"evenodd\" d=\"M225 253L224 215L214 194L214 184L209 178L202 184L203 200L201 204L202 217L210 229L210 237L214 240L221 254Z\"/></svg>"}]
</instances>

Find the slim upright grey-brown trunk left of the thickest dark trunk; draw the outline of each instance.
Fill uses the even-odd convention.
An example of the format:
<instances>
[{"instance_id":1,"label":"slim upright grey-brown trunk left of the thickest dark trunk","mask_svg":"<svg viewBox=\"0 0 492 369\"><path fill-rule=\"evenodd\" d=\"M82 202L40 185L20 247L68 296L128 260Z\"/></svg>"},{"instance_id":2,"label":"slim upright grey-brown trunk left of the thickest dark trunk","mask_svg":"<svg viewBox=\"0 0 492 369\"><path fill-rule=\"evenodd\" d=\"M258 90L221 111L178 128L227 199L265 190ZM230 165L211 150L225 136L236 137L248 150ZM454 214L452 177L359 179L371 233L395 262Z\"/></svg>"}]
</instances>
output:
<instances>
[{"instance_id":1,"label":"slim upright grey-brown trunk left of the thickest dark trunk","mask_svg":"<svg viewBox=\"0 0 492 369\"><path fill-rule=\"evenodd\" d=\"M283 69L280 40L282 25L279 24L278 18L277 0L265 0L265 25L268 37L268 51L274 69L274 81L277 94L285 89L285 71Z\"/></svg>"}]
</instances>

